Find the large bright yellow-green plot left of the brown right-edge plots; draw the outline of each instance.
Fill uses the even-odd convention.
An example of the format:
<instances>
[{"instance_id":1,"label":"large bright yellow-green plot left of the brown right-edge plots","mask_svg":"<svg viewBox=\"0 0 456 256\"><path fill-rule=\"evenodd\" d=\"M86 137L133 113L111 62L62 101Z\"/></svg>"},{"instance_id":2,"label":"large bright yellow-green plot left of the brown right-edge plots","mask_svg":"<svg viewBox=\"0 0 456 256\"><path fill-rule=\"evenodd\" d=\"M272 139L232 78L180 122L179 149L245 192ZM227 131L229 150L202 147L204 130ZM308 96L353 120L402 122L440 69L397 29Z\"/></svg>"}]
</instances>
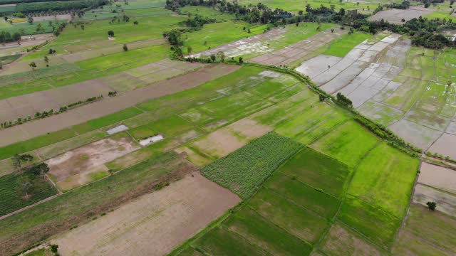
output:
<instances>
[{"instance_id":1,"label":"large bright yellow-green plot left of the brown right-edge plots","mask_svg":"<svg viewBox=\"0 0 456 256\"><path fill-rule=\"evenodd\" d=\"M419 161L385 142L376 146L355 171L348 193L403 218Z\"/></svg>"}]
</instances>

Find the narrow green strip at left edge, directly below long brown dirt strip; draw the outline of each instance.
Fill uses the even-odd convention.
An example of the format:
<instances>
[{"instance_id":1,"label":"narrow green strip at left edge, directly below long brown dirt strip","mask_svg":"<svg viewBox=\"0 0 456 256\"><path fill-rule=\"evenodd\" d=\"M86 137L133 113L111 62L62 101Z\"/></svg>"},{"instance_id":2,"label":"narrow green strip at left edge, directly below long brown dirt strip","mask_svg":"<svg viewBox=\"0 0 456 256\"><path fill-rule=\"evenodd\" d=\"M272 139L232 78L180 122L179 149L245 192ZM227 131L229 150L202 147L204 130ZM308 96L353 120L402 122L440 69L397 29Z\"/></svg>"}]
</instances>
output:
<instances>
[{"instance_id":1,"label":"narrow green strip at left edge, directly below long brown dirt strip","mask_svg":"<svg viewBox=\"0 0 456 256\"><path fill-rule=\"evenodd\" d=\"M65 139L75 137L76 134L71 129L63 129L58 132L50 132L40 137L28 139L24 142L17 142L0 148L0 159L7 159L15 154L22 154L43 146L48 146Z\"/></svg>"}]
</instances>

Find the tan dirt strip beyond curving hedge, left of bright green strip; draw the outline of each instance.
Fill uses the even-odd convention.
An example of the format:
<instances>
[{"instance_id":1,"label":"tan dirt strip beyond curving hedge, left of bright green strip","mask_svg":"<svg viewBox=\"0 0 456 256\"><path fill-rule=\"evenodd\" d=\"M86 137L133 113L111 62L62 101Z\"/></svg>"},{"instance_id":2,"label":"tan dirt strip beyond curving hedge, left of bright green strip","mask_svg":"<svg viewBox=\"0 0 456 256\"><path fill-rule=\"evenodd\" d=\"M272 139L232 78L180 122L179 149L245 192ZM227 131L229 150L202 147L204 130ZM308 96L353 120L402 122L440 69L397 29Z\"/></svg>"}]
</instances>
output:
<instances>
[{"instance_id":1,"label":"tan dirt strip beyond curving hedge, left of bright green strip","mask_svg":"<svg viewBox=\"0 0 456 256\"><path fill-rule=\"evenodd\" d=\"M346 33L346 31L336 29L331 33L331 30L328 29L315 36L311 36L306 40L299 41L291 46L286 46L286 48L259 55L258 57L252 58L250 61L264 65L289 65L298 60L309 58L309 55L314 53L315 50L330 43L343 33Z\"/></svg>"}]
</instances>

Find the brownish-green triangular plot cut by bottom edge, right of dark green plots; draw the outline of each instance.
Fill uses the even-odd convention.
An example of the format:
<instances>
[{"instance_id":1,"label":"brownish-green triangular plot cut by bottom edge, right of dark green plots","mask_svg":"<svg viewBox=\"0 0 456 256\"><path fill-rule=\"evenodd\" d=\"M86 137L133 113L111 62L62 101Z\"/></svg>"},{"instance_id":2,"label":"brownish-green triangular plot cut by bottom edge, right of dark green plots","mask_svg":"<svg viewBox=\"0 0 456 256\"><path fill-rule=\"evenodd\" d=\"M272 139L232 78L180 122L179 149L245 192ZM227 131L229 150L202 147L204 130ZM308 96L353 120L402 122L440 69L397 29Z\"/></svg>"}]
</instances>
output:
<instances>
[{"instance_id":1,"label":"brownish-green triangular plot cut by bottom edge, right of dark green plots","mask_svg":"<svg viewBox=\"0 0 456 256\"><path fill-rule=\"evenodd\" d=\"M324 238L321 249L325 255L388 255L362 235L341 223L334 223Z\"/></svg>"}]
</instances>

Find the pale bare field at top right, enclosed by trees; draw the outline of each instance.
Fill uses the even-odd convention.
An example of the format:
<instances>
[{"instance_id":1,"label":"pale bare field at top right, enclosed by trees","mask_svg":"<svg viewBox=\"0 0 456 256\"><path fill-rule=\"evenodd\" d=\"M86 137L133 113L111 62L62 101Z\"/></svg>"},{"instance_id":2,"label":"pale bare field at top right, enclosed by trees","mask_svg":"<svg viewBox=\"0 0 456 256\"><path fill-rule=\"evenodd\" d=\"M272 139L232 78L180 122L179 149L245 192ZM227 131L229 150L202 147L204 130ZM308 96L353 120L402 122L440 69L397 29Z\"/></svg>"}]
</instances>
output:
<instances>
[{"instance_id":1,"label":"pale bare field at top right, enclosed by trees","mask_svg":"<svg viewBox=\"0 0 456 256\"><path fill-rule=\"evenodd\" d=\"M418 18L427 14L432 14L434 9L427 9L418 6L410 6L409 9L389 9L386 11L379 11L377 14L368 18L369 21L388 21L389 23L402 24L402 20L410 21L412 18Z\"/></svg>"}]
</instances>

